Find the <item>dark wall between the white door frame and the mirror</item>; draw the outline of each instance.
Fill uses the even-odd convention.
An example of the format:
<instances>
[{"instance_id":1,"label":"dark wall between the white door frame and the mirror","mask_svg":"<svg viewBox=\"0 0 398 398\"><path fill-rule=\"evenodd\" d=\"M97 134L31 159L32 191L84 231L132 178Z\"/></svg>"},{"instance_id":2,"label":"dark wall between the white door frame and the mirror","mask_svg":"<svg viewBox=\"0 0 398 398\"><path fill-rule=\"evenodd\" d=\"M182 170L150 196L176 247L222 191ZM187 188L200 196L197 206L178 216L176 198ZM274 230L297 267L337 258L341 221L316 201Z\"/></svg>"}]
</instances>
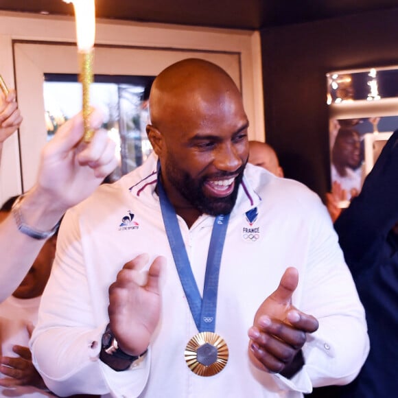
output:
<instances>
[{"instance_id":1,"label":"dark wall between the white door frame and the mirror","mask_svg":"<svg viewBox=\"0 0 398 398\"><path fill-rule=\"evenodd\" d=\"M266 141L285 176L321 198L330 184L325 75L398 65L397 21L398 8L261 32Z\"/></svg>"}]
</instances>

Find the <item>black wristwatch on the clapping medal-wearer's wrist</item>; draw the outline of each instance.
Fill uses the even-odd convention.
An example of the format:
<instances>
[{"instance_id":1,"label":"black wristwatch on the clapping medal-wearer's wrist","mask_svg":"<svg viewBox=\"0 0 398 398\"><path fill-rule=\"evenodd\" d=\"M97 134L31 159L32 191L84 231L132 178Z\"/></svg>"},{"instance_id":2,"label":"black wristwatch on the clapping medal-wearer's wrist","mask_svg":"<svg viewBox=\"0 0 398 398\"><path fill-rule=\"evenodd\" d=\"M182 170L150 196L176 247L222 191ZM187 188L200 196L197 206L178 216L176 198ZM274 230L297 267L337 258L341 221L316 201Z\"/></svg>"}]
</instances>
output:
<instances>
[{"instance_id":1,"label":"black wristwatch on the clapping medal-wearer's wrist","mask_svg":"<svg viewBox=\"0 0 398 398\"><path fill-rule=\"evenodd\" d=\"M100 360L113 368L115 371L126 371L133 362L139 360L148 351L146 349L141 355L129 355L122 351L115 336L110 330L110 324L106 326L105 333L102 335L102 347L100 352Z\"/></svg>"}]
</instances>

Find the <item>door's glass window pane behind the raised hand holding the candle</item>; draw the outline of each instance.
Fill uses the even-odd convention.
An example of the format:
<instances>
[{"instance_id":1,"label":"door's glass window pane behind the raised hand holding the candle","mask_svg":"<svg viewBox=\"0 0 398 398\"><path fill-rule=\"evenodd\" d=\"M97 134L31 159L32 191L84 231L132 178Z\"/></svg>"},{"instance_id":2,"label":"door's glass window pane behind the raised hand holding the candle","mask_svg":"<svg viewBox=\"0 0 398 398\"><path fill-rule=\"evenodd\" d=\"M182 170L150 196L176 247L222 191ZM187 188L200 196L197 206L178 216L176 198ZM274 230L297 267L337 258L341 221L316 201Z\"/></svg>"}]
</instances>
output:
<instances>
[{"instance_id":1,"label":"door's glass window pane behind the raised hand holding the candle","mask_svg":"<svg viewBox=\"0 0 398 398\"><path fill-rule=\"evenodd\" d=\"M90 103L104 113L104 125L117 144L119 167L109 176L114 181L141 165L152 152L145 128L149 122L148 97L152 76L95 75ZM45 74L43 84L47 139L82 109L78 75Z\"/></svg>"}]
</instances>

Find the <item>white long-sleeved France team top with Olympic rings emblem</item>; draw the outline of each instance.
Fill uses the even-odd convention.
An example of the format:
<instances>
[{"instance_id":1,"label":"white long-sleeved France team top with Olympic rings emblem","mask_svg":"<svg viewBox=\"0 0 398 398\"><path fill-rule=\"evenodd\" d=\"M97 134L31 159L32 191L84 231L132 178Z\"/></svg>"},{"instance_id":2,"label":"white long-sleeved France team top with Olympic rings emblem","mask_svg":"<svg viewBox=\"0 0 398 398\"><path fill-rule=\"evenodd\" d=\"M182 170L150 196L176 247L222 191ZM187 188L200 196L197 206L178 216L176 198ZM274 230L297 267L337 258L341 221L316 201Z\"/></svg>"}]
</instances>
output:
<instances>
[{"instance_id":1,"label":"white long-sleeved France team top with Olympic rings emblem","mask_svg":"<svg viewBox=\"0 0 398 398\"><path fill-rule=\"evenodd\" d=\"M368 353L364 310L325 207L300 183L247 165L231 213L220 268L215 332L229 346L217 375L201 377L185 363L198 333L178 279L159 206L156 158L117 183L101 186L68 211L53 272L32 337L34 361L59 395L115 397L301 397L312 386L347 383ZM246 214L257 208L257 218ZM255 213L255 211L253 211ZM178 217L200 292L214 218L191 229ZM108 323L108 287L141 253L167 258L162 314L145 359L115 372L98 359ZM318 318L303 347L305 366L292 379L259 371L248 359L248 329L286 268L299 270L293 304Z\"/></svg>"}]
</instances>

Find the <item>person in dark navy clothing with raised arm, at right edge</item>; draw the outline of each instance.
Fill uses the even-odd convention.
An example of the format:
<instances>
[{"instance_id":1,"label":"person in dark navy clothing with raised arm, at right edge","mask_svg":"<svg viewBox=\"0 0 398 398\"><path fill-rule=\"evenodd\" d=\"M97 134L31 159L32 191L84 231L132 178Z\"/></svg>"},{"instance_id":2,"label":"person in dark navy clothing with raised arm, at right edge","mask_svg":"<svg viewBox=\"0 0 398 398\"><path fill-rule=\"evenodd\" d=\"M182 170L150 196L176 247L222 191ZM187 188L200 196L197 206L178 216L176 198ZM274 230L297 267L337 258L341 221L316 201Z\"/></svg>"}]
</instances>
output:
<instances>
[{"instance_id":1,"label":"person in dark navy clothing with raised arm, at right edge","mask_svg":"<svg viewBox=\"0 0 398 398\"><path fill-rule=\"evenodd\" d=\"M334 223L366 312L371 351L349 385L319 397L392 397L398 390L398 130Z\"/></svg>"}]
</instances>

